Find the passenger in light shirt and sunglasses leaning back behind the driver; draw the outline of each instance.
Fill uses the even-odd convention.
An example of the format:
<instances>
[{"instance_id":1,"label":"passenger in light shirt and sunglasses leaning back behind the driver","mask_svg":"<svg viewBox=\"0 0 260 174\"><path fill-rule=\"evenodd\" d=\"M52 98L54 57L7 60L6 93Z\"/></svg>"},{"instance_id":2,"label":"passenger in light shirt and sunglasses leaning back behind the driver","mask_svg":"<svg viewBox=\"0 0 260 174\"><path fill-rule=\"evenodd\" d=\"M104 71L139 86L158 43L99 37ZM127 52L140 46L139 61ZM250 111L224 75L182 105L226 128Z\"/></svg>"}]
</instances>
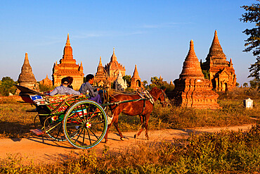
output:
<instances>
[{"instance_id":1,"label":"passenger in light shirt and sunglasses leaning back behind the driver","mask_svg":"<svg viewBox=\"0 0 260 174\"><path fill-rule=\"evenodd\" d=\"M61 85L59 87L56 87L52 92L50 92L50 96L56 95L56 94L75 94L80 95L80 92L74 91L73 89L67 87L70 83L70 80L67 79L67 77L64 77L61 80Z\"/></svg>"}]
</instances>

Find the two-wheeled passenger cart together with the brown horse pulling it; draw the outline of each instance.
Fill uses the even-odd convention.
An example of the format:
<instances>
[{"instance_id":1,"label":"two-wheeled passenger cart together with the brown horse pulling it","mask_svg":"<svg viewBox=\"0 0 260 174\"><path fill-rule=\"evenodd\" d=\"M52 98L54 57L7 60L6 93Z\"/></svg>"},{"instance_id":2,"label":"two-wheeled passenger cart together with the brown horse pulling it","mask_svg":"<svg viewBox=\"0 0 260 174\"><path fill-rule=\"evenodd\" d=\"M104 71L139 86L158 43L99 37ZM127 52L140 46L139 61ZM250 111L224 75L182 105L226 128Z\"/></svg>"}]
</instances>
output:
<instances>
[{"instance_id":1,"label":"two-wheeled passenger cart together with the brown horse pulling it","mask_svg":"<svg viewBox=\"0 0 260 174\"><path fill-rule=\"evenodd\" d=\"M164 102L165 99L165 93L162 89L154 90L154 93L151 93L152 96L149 93L146 97L142 97L142 94L116 95L110 100L108 92L103 90L103 104L100 105L89 100L86 95L56 95L51 97L27 87L15 86L20 89L19 95L23 101L36 106L35 110L30 111L37 112L37 116L34 118L35 129L31 130L32 132L37 135L46 134L56 141L67 140L79 149L94 147L104 137L105 142L107 142L107 130L109 130L111 122L114 123L119 136L123 139L122 132L117 125L118 116L121 112L129 116L140 115L143 125L141 131L145 128L145 135L148 137L147 126L153 108L152 101L159 99ZM147 100L150 100L150 102L145 105ZM112 118L108 116L108 108L112 111ZM126 111L127 108L129 108L129 111ZM113 117L115 118L113 119ZM37 124L38 122L39 124ZM138 135L141 131L138 132Z\"/></svg>"}]
</instances>

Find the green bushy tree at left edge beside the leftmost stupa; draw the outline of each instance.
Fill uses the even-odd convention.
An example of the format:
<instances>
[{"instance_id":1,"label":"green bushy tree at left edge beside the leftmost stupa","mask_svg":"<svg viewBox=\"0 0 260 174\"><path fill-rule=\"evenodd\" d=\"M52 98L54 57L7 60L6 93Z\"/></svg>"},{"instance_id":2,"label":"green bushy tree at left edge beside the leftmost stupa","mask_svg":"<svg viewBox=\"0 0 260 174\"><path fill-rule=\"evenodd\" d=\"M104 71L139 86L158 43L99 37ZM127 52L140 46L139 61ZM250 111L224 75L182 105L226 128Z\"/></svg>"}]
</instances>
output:
<instances>
[{"instance_id":1,"label":"green bushy tree at left edge beside the leftmost stupa","mask_svg":"<svg viewBox=\"0 0 260 174\"><path fill-rule=\"evenodd\" d=\"M17 83L11 77L3 77L0 82L0 94L2 96L8 96L10 92L15 94L16 87L13 84Z\"/></svg>"}]
</instances>

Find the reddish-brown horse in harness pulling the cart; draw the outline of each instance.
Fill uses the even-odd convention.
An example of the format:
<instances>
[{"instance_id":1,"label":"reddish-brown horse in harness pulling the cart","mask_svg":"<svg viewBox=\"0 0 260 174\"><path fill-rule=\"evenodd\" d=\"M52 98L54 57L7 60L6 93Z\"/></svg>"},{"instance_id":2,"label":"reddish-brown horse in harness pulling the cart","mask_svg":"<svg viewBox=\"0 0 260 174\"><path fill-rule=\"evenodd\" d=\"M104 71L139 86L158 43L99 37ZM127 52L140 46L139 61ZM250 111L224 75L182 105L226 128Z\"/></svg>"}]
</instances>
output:
<instances>
[{"instance_id":1,"label":"reddish-brown horse in harness pulling the cart","mask_svg":"<svg viewBox=\"0 0 260 174\"><path fill-rule=\"evenodd\" d=\"M157 87L153 87L150 91L150 95L153 98L154 101L161 101L162 106L166 106L165 97L166 94L164 93L165 90L158 89ZM139 101L131 101L131 102L125 102L121 103L122 101L130 101L130 100L138 100L141 99L141 97L138 94L135 95L126 95L126 94L117 94L115 96L110 97L110 103L118 103L110 105L110 109L112 111L112 122L110 125L108 125L108 130L105 133L105 142L108 142L108 131L114 123L115 128L117 129L117 132L119 133L120 139L124 140L124 137L122 135L122 132L118 128L118 118L119 113L124 113L128 116L140 116L141 125L142 128L138 132L137 136L139 136L145 128L145 137L149 139L148 137L148 120L150 117L150 113L152 112L153 104L149 100L139 100ZM136 135L134 135L136 138Z\"/></svg>"}]
</instances>

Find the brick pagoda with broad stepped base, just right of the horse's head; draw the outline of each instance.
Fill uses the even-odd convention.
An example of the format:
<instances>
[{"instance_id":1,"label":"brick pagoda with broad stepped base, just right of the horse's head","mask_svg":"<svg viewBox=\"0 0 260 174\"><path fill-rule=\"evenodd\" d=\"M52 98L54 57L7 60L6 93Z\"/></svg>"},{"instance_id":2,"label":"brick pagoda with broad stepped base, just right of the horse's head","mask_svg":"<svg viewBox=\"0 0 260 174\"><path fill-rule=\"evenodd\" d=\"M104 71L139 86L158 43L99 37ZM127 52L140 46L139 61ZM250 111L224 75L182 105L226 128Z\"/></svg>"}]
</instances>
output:
<instances>
[{"instance_id":1,"label":"brick pagoda with broad stepped base, just right of the horse's head","mask_svg":"<svg viewBox=\"0 0 260 174\"><path fill-rule=\"evenodd\" d=\"M194 51L193 40L190 50L183 62L183 70L179 78L174 80L174 104L192 108L219 108L219 94L212 91L211 83L204 78L200 62Z\"/></svg>"}]
</instances>

